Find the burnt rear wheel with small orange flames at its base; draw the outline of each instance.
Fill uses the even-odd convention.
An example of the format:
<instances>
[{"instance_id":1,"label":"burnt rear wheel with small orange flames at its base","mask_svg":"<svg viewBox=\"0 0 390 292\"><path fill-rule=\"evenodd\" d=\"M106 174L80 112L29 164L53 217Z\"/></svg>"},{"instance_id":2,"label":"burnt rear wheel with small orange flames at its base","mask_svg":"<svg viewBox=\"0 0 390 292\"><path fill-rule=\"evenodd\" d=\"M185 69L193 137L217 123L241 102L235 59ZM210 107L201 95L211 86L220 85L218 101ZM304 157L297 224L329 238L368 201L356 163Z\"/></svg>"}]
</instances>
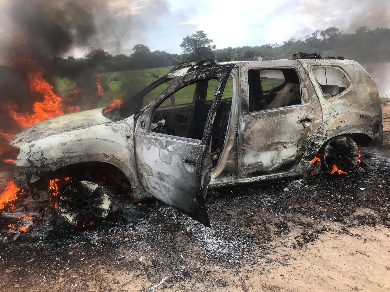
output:
<instances>
[{"instance_id":1,"label":"burnt rear wheel with small orange flames at its base","mask_svg":"<svg viewBox=\"0 0 390 292\"><path fill-rule=\"evenodd\" d=\"M331 174L353 172L359 162L358 146L350 137L333 137L324 148L322 161L325 169Z\"/></svg>"}]
</instances>

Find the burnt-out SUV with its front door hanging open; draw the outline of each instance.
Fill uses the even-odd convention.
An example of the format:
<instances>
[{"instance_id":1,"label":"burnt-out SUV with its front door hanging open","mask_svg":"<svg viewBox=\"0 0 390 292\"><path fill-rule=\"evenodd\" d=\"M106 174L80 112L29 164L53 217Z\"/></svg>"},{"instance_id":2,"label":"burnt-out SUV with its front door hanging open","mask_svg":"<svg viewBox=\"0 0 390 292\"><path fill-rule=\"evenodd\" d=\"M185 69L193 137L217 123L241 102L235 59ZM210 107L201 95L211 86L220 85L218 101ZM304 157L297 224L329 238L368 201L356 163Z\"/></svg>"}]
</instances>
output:
<instances>
[{"instance_id":1,"label":"burnt-out SUV with its front door hanging open","mask_svg":"<svg viewBox=\"0 0 390 292\"><path fill-rule=\"evenodd\" d=\"M80 226L103 220L112 199L155 197L209 226L208 188L349 173L357 145L383 139L378 89L352 60L182 63L113 111L94 109L26 128L19 188L48 199ZM108 176L124 178L110 186Z\"/></svg>"}]
</instances>

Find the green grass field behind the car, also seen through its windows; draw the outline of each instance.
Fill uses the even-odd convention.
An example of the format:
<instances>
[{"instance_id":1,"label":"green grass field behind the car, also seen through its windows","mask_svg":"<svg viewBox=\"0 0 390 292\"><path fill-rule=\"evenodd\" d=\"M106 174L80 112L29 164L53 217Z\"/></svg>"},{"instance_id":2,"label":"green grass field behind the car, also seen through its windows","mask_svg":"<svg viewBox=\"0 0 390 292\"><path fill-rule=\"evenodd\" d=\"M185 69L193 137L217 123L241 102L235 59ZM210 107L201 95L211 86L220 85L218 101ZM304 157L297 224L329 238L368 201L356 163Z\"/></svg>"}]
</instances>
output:
<instances>
[{"instance_id":1,"label":"green grass field behind the car, also seen through its windows","mask_svg":"<svg viewBox=\"0 0 390 292\"><path fill-rule=\"evenodd\" d=\"M145 70L130 70L122 72L110 72L104 73L103 76L99 79L99 83L104 89L104 95L97 99L97 102L94 104L94 107L106 107L112 103L113 99L118 99L122 93L125 93L123 100L127 100L143 88L156 81L162 76L168 74L171 67L160 67L152 68ZM262 87L263 90L269 90L275 86L280 85L280 80L275 78L263 78ZM84 82L85 84L85 82ZM154 100L161 92L163 92L172 81L168 81L155 88L147 95L145 95L143 106L149 104ZM206 100L212 100L214 93L218 86L216 80L210 80L207 86L207 98ZM57 91L60 95L65 96L67 99L70 99L72 95L69 91L82 87L78 85L78 82L70 78L59 79L57 85ZM96 99L97 87L95 79L90 79L87 88L83 88L83 92L78 96L78 100L74 105L83 106L87 104L90 100ZM191 84L182 88L181 90L174 93L174 104L186 104L193 101L193 96L195 92L195 84ZM222 99L232 97L233 95L233 79L229 78L225 90L222 95ZM171 99L167 99L162 106L169 106L172 104Z\"/></svg>"}]
</instances>

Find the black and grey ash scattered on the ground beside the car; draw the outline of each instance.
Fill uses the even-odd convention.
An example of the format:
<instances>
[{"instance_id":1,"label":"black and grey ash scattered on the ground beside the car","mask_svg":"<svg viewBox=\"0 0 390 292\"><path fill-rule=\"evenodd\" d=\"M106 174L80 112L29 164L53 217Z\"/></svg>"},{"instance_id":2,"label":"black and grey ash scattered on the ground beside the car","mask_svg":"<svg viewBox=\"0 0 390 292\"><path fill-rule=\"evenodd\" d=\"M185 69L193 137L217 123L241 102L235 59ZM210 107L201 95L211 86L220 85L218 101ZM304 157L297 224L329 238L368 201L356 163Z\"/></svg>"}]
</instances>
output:
<instances>
[{"instance_id":1,"label":"black and grey ash scattered on the ground beside the car","mask_svg":"<svg viewBox=\"0 0 390 292\"><path fill-rule=\"evenodd\" d=\"M212 229L156 200L120 209L102 225L83 230L53 217L3 244L0 265L26 282L26 271L30 280L34 275L67 278L77 271L73 278L88 281L93 273L83 267L99 259L105 267L137 271L153 283L163 279L166 288L218 267L238 272L262 259L270 262L267 255L283 245L291 229L299 232L289 247L302 249L332 229L329 222L347 234L359 225L390 228L389 161L371 153L363 162L349 176L320 172L211 190ZM276 261L288 265L289 260L284 255ZM17 264L10 270L7 262Z\"/></svg>"}]
</instances>

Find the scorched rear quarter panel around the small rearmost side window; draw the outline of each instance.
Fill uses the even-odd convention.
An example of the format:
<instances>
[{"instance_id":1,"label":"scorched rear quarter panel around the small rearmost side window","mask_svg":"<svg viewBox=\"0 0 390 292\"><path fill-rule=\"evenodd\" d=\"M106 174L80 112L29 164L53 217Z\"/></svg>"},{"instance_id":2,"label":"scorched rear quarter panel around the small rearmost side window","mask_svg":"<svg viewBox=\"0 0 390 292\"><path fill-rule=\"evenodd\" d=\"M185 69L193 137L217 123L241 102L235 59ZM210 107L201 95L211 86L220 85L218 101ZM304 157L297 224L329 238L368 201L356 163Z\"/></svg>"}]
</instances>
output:
<instances>
[{"instance_id":1,"label":"scorched rear quarter panel around the small rearmost side window","mask_svg":"<svg viewBox=\"0 0 390 292\"><path fill-rule=\"evenodd\" d=\"M376 137L381 133L378 135L372 129L375 123L381 123L378 87L367 71L353 60L307 60L305 63L323 112L322 128L317 134L319 146L343 134L362 133L371 139L381 139ZM339 95L325 98L313 73L316 67L337 67L351 85Z\"/></svg>"}]
</instances>

